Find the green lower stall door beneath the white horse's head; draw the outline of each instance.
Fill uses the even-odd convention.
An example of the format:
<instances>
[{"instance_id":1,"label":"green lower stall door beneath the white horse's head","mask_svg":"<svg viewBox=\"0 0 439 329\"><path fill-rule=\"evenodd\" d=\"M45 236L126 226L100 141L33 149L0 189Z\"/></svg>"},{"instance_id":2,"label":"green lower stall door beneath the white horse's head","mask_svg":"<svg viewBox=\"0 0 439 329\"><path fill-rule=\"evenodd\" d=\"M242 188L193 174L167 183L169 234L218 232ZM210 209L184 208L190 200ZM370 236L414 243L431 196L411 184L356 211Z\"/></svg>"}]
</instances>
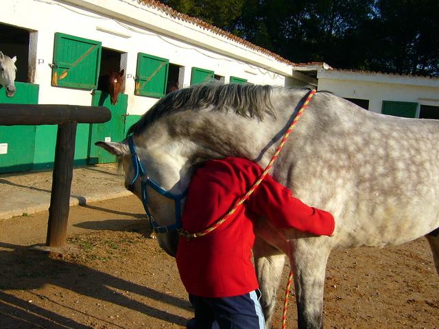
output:
<instances>
[{"instance_id":1,"label":"green lower stall door beneath the white horse's head","mask_svg":"<svg viewBox=\"0 0 439 329\"><path fill-rule=\"evenodd\" d=\"M38 84L15 82L14 97L0 86L0 103L38 104ZM35 125L0 125L0 173L27 171L34 163Z\"/></svg>"}]
</instances>

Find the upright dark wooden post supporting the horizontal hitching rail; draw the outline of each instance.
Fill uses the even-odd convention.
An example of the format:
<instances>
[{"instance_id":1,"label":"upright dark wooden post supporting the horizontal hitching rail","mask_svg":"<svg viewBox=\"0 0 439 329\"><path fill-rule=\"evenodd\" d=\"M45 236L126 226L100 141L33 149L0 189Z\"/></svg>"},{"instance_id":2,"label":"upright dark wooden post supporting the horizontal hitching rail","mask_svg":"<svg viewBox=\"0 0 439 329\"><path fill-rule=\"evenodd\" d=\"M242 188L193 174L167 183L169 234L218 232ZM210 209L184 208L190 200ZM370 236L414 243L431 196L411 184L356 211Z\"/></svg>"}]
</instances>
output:
<instances>
[{"instance_id":1,"label":"upright dark wooden post supporting the horizontal hitching rail","mask_svg":"<svg viewBox=\"0 0 439 329\"><path fill-rule=\"evenodd\" d=\"M58 125L46 239L49 247L66 245L76 126L77 122L73 120Z\"/></svg>"}]
</instances>

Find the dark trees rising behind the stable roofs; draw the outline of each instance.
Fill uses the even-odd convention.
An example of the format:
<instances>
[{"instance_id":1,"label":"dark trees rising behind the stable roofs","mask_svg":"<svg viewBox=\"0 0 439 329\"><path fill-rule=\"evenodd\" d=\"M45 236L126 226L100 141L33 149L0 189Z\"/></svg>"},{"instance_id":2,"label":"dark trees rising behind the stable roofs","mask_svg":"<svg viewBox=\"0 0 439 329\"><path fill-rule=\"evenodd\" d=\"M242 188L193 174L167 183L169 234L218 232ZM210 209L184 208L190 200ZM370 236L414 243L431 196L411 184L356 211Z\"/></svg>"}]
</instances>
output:
<instances>
[{"instance_id":1,"label":"dark trees rising behind the stable roofs","mask_svg":"<svg viewBox=\"0 0 439 329\"><path fill-rule=\"evenodd\" d=\"M437 0L167 0L292 60L439 76Z\"/></svg>"}]
</instances>

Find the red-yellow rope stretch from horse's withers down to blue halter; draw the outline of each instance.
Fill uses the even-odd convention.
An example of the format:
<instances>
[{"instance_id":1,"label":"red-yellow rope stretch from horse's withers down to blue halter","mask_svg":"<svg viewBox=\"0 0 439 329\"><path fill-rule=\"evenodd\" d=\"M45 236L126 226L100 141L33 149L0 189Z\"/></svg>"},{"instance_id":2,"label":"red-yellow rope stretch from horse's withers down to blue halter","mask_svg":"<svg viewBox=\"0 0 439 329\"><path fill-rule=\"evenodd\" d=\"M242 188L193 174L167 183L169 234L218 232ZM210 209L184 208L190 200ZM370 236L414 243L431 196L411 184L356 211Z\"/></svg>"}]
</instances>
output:
<instances>
[{"instance_id":1,"label":"red-yellow rope stretch from horse's withers down to blue halter","mask_svg":"<svg viewBox=\"0 0 439 329\"><path fill-rule=\"evenodd\" d=\"M305 108L307 108L309 101L311 101L311 99L313 98L313 95L316 93L316 91L317 91L316 89L311 90L311 92L309 93L307 99L302 104L302 107L300 108L300 110L298 110L297 115L294 118L293 122L291 123L291 125L289 125L288 130L283 135L282 141L281 141L281 143L279 143L279 145L278 145L276 151L274 152L270 162L268 162L267 167L265 167L263 173L261 174L261 176L259 176L259 179L253 184L253 186L250 188L250 190L244 196L242 196L240 199L238 199L237 202L235 202L235 204L233 205L233 208L226 215L224 215L224 217L222 217L221 219L218 219L217 221L215 221L215 223L213 223L213 225L210 226L209 228L206 228L206 230L203 230L203 231L197 232L197 233L190 233L190 232L186 232L186 231L180 231L179 232L180 235L184 236L187 240L198 238L200 236L204 236L204 235L212 232L213 230L215 230L222 223L224 223L224 221L229 219L230 216L235 213L235 211L241 206L241 204L244 204L246 199L248 199L250 197L250 195L252 195L252 193L257 188L257 186L259 186L259 184L261 184L262 180L265 178L265 176L267 175L268 171L270 171L270 169L272 168L272 166L274 164L274 161L276 161L276 159L278 158L279 153L281 153L281 150L283 149L283 145L287 141L287 139L289 137L289 134L291 134L291 132L293 131L294 125L296 125L298 119L300 118L300 115L302 115L302 113L305 110Z\"/></svg>"}]
</instances>

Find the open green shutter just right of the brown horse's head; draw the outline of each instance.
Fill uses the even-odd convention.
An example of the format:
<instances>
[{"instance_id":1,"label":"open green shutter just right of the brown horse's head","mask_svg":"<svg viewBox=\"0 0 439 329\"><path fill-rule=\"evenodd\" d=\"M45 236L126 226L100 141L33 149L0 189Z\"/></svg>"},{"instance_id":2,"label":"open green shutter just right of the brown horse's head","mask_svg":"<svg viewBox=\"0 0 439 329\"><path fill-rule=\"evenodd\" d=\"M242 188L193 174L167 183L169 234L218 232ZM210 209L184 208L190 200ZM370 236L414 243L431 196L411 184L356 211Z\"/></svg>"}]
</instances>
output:
<instances>
[{"instance_id":1,"label":"open green shutter just right of the brown horse's head","mask_svg":"<svg viewBox=\"0 0 439 329\"><path fill-rule=\"evenodd\" d=\"M163 97L166 94L169 60L146 53L137 55L135 95Z\"/></svg>"}]
</instances>

